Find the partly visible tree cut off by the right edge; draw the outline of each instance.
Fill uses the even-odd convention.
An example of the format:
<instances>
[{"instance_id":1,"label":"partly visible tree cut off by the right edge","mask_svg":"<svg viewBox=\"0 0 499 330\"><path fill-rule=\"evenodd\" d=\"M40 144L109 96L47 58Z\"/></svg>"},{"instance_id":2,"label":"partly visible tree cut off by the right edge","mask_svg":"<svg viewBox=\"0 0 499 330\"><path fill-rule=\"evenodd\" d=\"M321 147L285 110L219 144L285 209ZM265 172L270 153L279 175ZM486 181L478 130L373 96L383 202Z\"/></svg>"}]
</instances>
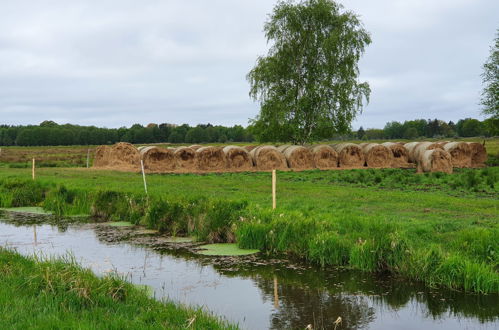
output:
<instances>
[{"instance_id":1,"label":"partly visible tree cut off by the right edge","mask_svg":"<svg viewBox=\"0 0 499 330\"><path fill-rule=\"evenodd\" d=\"M499 118L499 29L496 31L495 45L490 47L490 56L483 65L482 113Z\"/></svg>"}]
</instances>

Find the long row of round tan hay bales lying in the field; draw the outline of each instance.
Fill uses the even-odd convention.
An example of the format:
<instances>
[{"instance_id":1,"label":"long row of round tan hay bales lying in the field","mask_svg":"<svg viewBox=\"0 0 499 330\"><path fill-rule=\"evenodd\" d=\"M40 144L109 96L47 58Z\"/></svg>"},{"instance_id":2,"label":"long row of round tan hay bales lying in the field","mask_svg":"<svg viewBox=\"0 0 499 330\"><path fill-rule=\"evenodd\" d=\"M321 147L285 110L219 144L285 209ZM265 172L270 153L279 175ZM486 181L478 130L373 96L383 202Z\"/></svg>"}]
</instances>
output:
<instances>
[{"instance_id":1,"label":"long row of round tan hay bales lying in the field","mask_svg":"<svg viewBox=\"0 0 499 330\"><path fill-rule=\"evenodd\" d=\"M466 142L339 143L310 147L193 145L178 148L136 148L120 142L98 147L94 167L138 171L142 159L145 170L156 173L414 166L419 171L450 173L453 167L483 166L486 157L484 146Z\"/></svg>"}]
</instances>

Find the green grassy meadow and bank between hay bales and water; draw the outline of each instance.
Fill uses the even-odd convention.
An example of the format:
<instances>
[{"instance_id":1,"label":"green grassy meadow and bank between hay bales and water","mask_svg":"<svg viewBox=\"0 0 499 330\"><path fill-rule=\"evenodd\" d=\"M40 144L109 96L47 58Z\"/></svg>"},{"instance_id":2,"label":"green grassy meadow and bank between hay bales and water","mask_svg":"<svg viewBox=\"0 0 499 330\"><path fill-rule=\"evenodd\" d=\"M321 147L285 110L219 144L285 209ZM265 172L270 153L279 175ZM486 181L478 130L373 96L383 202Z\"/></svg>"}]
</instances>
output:
<instances>
[{"instance_id":1,"label":"green grassy meadow and bank between hay bales and water","mask_svg":"<svg viewBox=\"0 0 499 330\"><path fill-rule=\"evenodd\" d=\"M237 241L321 265L389 271L431 285L499 292L499 168L150 175L78 169L0 172L0 206L128 220L209 242Z\"/></svg>"}]
</instances>

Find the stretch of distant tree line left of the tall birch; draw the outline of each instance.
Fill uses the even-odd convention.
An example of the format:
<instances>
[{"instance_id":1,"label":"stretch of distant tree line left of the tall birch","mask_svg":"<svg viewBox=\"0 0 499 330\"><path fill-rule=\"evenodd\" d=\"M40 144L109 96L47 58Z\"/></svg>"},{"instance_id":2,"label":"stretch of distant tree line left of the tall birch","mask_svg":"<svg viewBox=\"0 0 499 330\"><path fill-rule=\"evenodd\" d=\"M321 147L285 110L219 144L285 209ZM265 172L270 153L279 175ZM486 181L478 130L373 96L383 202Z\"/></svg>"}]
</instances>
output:
<instances>
[{"instance_id":1,"label":"stretch of distant tree line left of the tall birch","mask_svg":"<svg viewBox=\"0 0 499 330\"><path fill-rule=\"evenodd\" d=\"M99 128L95 126L58 125L44 121L40 125L0 125L2 146L99 145L116 142L130 143L225 143L251 142L248 129L211 124L191 127L187 124L135 124L130 128Z\"/></svg>"}]
</instances>

